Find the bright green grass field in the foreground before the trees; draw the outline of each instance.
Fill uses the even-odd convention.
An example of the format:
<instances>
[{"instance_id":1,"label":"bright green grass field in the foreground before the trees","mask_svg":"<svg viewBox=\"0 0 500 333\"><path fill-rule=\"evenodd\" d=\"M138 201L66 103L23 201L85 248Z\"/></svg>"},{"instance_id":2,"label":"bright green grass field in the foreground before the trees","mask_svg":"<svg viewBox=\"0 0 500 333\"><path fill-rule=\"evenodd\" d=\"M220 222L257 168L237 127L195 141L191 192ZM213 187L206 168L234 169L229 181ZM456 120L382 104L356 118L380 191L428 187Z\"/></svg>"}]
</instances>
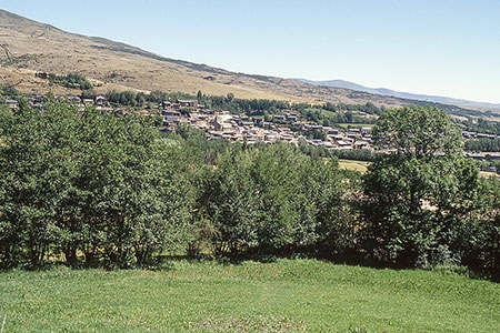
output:
<instances>
[{"instance_id":1,"label":"bright green grass field in the foreground before the trees","mask_svg":"<svg viewBox=\"0 0 500 333\"><path fill-rule=\"evenodd\" d=\"M316 260L58 268L1 273L4 317L6 333L499 332L500 284Z\"/></svg>"}]
</instances>

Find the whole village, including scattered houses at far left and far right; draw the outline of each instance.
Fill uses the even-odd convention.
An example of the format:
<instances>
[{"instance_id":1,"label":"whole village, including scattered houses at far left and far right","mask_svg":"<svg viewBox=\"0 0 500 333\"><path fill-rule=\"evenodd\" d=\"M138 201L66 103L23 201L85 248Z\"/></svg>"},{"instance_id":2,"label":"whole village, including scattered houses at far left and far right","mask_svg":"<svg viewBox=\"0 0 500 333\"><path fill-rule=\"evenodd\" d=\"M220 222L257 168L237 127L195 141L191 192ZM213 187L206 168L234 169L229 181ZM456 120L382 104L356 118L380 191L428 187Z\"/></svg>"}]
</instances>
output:
<instances>
[{"instance_id":1,"label":"whole village, including scattered houses at far left and far right","mask_svg":"<svg viewBox=\"0 0 500 333\"><path fill-rule=\"evenodd\" d=\"M110 103L106 94L98 94L94 99L80 97L56 97L77 104L80 110L93 105L97 110L130 112L122 105ZM33 108L42 109L47 95L27 98ZM19 99L6 100L11 109L17 108ZM198 100L162 101L147 110L138 111L142 114L156 115L161 119L160 131L176 132L179 125L191 125L206 133L208 140L226 140L246 144L274 143L286 141L299 144L300 141L312 147L323 147L328 150L373 150L372 128L352 124L348 128L323 127L306 121L299 112L284 110L282 114L264 117L263 112L253 111L251 115L231 114L228 111L214 111L199 103ZM462 139L497 139L499 135L462 131ZM466 157L476 160L500 160L498 152L466 152Z\"/></svg>"}]
</instances>

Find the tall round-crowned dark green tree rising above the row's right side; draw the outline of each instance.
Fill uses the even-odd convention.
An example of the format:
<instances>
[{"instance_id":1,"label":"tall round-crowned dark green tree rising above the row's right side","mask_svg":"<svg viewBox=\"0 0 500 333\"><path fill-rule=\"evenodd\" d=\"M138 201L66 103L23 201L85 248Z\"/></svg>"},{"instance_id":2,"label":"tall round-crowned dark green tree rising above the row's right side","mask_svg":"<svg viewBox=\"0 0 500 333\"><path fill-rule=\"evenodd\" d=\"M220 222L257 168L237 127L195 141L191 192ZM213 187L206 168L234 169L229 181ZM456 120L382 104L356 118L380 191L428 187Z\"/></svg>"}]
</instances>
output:
<instances>
[{"instance_id":1,"label":"tall round-crowned dark green tree rising above the row's right side","mask_svg":"<svg viewBox=\"0 0 500 333\"><path fill-rule=\"evenodd\" d=\"M374 128L381 154L363 178L364 246L373 256L414 265L438 245L457 249L473 211L478 168L461 154L458 129L444 111L404 107ZM434 255L436 256L436 255Z\"/></svg>"}]
</instances>

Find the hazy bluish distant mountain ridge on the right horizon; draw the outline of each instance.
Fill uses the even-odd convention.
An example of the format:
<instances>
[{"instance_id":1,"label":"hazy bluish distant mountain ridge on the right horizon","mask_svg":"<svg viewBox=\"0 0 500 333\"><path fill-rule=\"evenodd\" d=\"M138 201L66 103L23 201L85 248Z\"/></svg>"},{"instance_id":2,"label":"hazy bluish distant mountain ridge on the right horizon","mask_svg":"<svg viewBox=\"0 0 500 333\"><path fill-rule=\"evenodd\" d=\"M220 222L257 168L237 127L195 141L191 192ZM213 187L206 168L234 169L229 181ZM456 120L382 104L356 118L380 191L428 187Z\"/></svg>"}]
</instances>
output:
<instances>
[{"instance_id":1,"label":"hazy bluish distant mountain ridge on the right horizon","mask_svg":"<svg viewBox=\"0 0 500 333\"><path fill-rule=\"evenodd\" d=\"M410 92L400 92L400 91L386 89L386 88L368 88L368 87L357 84L353 82L349 82L349 81L344 81L344 80L329 80L329 81L311 81L311 80L306 80L306 79L292 79L292 80L296 80L298 82L314 84L314 85L352 89L352 90L357 90L357 91L363 91L363 92L376 93L376 94L388 95L388 97L396 97L396 98L401 98L401 99L428 101L428 102L434 102L434 103L458 105L458 107L463 107L463 108L500 110L500 104L494 104L494 103L476 102L476 101L460 100L460 99L453 99L453 98L447 98L447 97L440 97L440 95L428 95L428 94L418 94L418 93L410 93Z\"/></svg>"}]
</instances>

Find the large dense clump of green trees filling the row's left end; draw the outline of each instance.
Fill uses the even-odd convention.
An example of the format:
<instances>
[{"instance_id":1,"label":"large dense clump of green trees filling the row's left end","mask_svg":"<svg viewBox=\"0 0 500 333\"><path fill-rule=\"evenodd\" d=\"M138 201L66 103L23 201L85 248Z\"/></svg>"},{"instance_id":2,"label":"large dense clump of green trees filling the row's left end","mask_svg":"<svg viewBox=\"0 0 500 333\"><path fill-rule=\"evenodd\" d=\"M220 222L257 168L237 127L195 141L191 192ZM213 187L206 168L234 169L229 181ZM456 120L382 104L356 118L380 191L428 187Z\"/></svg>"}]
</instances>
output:
<instances>
[{"instance_id":1,"label":"large dense clump of green trees filling the row's left end","mask_svg":"<svg viewBox=\"0 0 500 333\"><path fill-rule=\"evenodd\" d=\"M143 265L191 221L182 150L151 120L49 99L0 112L0 265Z\"/></svg>"}]
</instances>

